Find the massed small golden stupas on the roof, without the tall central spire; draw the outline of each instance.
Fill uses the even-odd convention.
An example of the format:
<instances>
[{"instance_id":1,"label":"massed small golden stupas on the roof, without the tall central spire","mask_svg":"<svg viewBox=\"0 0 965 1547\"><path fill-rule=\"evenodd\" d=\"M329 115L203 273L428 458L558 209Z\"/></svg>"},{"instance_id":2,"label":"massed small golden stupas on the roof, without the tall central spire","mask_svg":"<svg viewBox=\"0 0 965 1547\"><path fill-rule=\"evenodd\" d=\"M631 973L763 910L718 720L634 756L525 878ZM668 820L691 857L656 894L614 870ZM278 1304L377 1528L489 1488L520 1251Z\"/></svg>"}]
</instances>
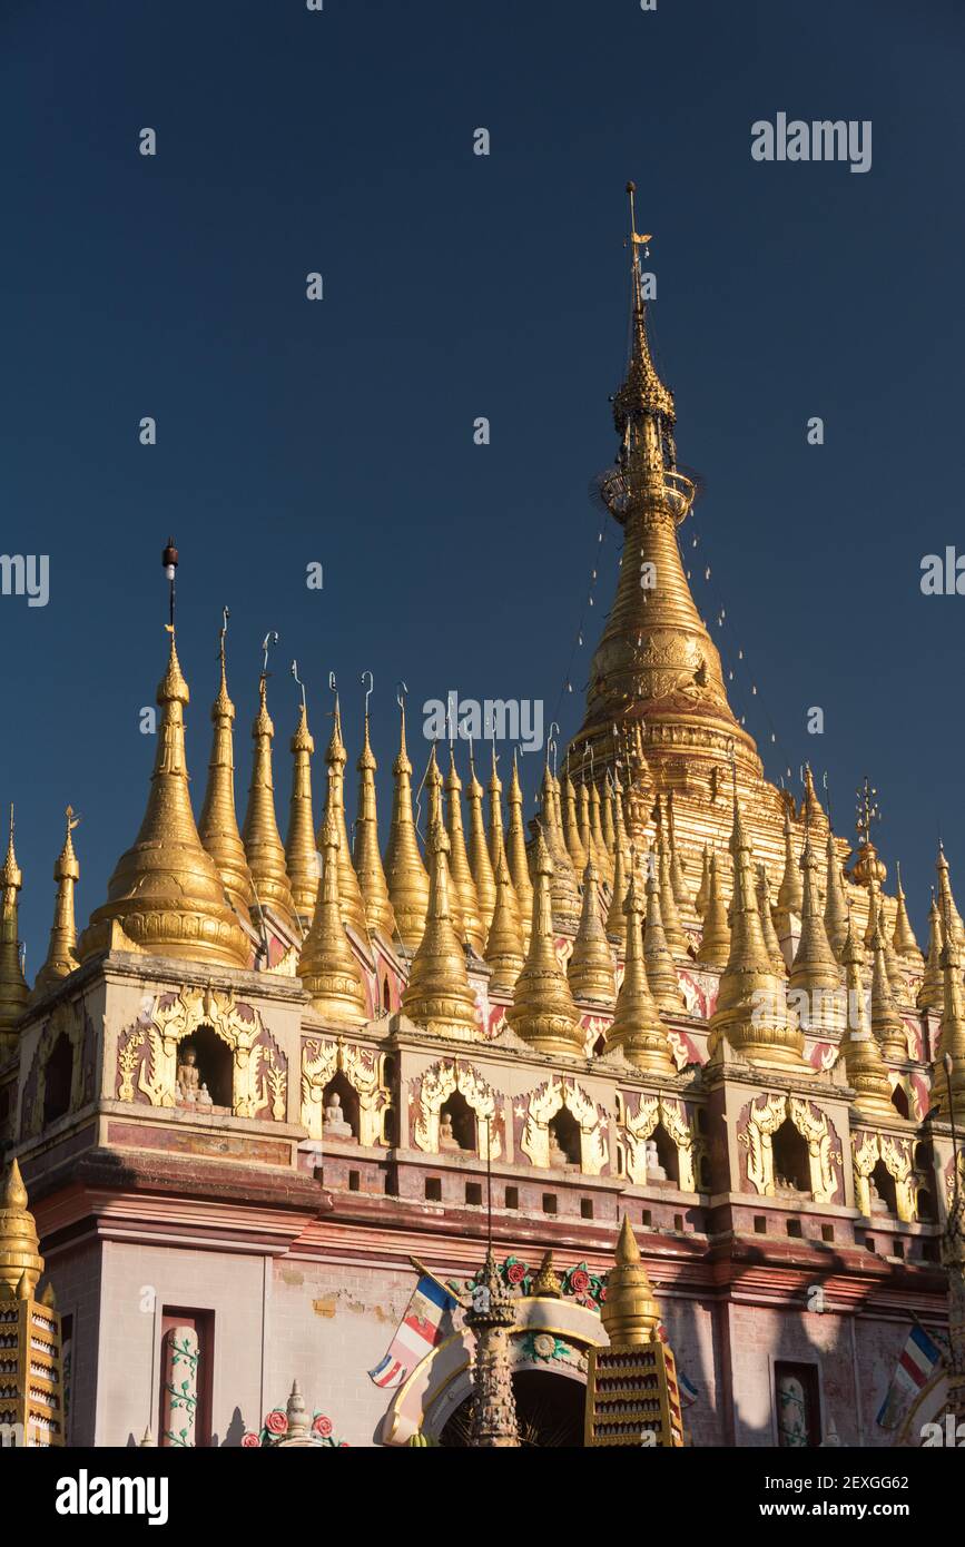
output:
<instances>
[{"instance_id":1,"label":"massed small golden stupas on the roof, without the tall central spire","mask_svg":"<svg viewBox=\"0 0 965 1547\"><path fill-rule=\"evenodd\" d=\"M558 778L547 758L541 815L529 840L515 761L507 826L495 755L489 811L470 761L467 838L455 752L450 747L444 777L433 744L424 777L428 803L424 859L413 818L413 769L402 710L391 826L382 855L367 713L357 761L359 817L350 851L339 704L325 753L325 811L315 834L314 741L303 699L291 739L292 789L283 843L266 688L263 673L252 727L247 811L238 828L235 709L227 693L223 636L207 789L195 821L184 744L189 688L172 634L167 671L158 688L158 750L141 831L118 862L107 902L94 910L77 937L73 893L79 865L68 812L54 868L57 894L49 950L32 995L17 948L22 874L11 820L0 933L0 1029L8 1036L31 998L40 998L110 945L209 965L252 967L263 917L280 922L297 942L297 972L312 1006L336 1023L365 1019L365 984L353 937L365 950L371 937L380 936L401 959L410 959L402 1009L428 1030L476 1035L469 978L475 964L476 973L489 968L490 993L509 1001L510 1027L534 1049L580 1054L586 1036L577 1004L595 1007L614 1015L608 1049L622 1049L629 1061L656 1074L676 1074L665 1018L685 1013L679 967L721 972L711 1052L721 1035L727 1035L735 1049L762 1063L803 1067L804 1032L795 993L807 995L809 1004L815 995L829 996L829 1009L818 1012L826 1015L820 1024L846 1033L849 1064L855 1061L855 1074L863 1074L864 1094L880 1100L889 1100L883 1060L908 1054L902 1007L939 1007L948 992L950 970L954 992L946 1012L953 1012L951 1032L957 1035L965 928L945 855L939 854L939 899L933 900L928 961L923 961L900 882L894 927L888 927L881 865L874 845L864 843L855 868L868 893L868 927L860 939L829 825L823 855L812 840L810 812L815 820L823 812L810 774L803 801L804 845L796 852L786 818L784 871L773 902L767 868L755 860L736 795L736 774L730 863L707 845L694 888L674 842L673 794L648 803L646 760L639 743L626 747L626 758L603 787L591 780L574 781L568 769ZM566 968L557 951L560 936L572 937ZM787 944L781 948L781 941L790 939L793 953ZM617 992L620 959L623 976ZM863 1021L868 978L871 1038ZM841 1015L844 999L835 995L858 989L857 1007Z\"/></svg>"}]
</instances>

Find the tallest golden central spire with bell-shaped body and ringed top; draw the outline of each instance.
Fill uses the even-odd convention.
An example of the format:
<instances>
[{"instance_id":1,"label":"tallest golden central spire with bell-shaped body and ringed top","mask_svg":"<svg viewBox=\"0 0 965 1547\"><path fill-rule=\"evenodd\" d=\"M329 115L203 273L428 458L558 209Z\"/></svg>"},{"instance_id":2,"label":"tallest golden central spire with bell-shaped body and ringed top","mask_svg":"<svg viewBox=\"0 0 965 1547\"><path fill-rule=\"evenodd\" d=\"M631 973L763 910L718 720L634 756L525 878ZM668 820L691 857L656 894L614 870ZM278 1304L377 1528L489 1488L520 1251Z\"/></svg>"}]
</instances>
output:
<instances>
[{"instance_id":1,"label":"tallest golden central spire with bell-shaped body and ringed top","mask_svg":"<svg viewBox=\"0 0 965 1547\"><path fill-rule=\"evenodd\" d=\"M733 739L738 763L753 777L761 763L753 739L727 702L721 657L690 594L677 546L677 526L694 498L690 478L677 470L676 407L653 362L640 252L650 237L634 220L629 195L631 354L623 385L614 394L620 436L615 467L600 492L625 531L617 594L594 654L586 718L574 746L591 741L598 755L612 747L612 726L642 719L646 755L679 756L680 743L719 760ZM653 749L653 750L651 750Z\"/></svg>"}]
</instances>

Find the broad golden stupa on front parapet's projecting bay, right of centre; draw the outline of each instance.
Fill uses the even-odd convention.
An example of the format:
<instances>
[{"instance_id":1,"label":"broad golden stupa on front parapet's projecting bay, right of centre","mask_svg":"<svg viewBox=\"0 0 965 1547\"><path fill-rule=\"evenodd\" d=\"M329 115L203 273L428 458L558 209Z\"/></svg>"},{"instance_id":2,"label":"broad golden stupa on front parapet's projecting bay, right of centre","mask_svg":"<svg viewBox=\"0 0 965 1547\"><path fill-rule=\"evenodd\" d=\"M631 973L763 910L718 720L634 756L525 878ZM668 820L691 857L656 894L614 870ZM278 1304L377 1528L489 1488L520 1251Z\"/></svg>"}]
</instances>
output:
<instances>
[{"instance_id":1,"label":"broad golden stupa on front parapet's projecting bay, right of centre","mask_svg":"<svg viewBox=\"0 0 965 1547\"><path fill-rule=\"evenodd\" d=\"M784 978L773 968L753 883L753 857L735 801L730 835L733 897L730 903L730 954L721 975L718 1007L711 1016L710 1050L716 1057L722 1036L752 1063L804 1071L804 1036L789 1023Z\"/></svg>"}]
</instances>

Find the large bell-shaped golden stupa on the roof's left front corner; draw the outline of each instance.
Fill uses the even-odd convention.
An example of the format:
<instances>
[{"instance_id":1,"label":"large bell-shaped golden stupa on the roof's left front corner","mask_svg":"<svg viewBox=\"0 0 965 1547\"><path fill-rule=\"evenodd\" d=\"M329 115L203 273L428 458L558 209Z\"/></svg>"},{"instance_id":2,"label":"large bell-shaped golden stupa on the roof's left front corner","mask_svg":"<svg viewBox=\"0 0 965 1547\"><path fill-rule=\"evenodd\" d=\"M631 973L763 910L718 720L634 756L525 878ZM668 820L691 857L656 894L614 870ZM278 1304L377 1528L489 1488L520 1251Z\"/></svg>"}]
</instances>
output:
<instances>
[{"instance_id":1,"label":"large bell-shaped golden stupa on the roof's left front corner","mask_svg":"<svg viewBox=\"0 0 965 1547\"><path fill-rule=\"evenodd\" d=\"M247 967L251 944L224 897L215 862L198 837L187 787L184 709L189 690L175 636L158 687L161 724L150 794L141 831L121 855L107 888L107 902L80 936L82 962L110 948L111 928L153 956Z\"/></svg>"}]
</instances>

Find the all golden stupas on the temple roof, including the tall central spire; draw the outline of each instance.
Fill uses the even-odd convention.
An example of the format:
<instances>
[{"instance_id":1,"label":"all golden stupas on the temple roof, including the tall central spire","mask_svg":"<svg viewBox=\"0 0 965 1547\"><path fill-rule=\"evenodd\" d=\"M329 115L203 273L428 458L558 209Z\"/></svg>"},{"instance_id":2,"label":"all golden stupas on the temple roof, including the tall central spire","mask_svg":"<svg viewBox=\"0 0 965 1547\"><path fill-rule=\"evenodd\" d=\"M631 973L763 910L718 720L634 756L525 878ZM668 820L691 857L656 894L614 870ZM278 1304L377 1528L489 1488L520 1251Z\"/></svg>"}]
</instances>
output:
<instances>
[{"instance_id":1,"label":"all golden stupas on the temple roof, including the tall central spire","mask_svg":"<svg viewBox=\"0 0 965 1547\"><path fill-rule=\"evenodd\" d=\"M730 709L721 657L679 552L677 528L694 486L677 469L674 399L650 353L639 263L650 238L634 231L633 186L628 192L631 359L614 396L617 461L600 483L625 531L623 560L594 656L586 718L561 775L547 755L538 821L527 831L515 761L506 817L495 752L486 792L472 756L464 787L453 750L444 770L433 744L422 780L427 825L421 846L402 709L382 852L367 707L350 845L348 753L336 701L315 832L314 741L303 698L291 739L283 843L263 670L247 809L238 828L224 630L207 789L195 821L184 743L189 688L172 610L170 659L158 688L158 750L141 831L118 862L107 900L77 937L73 893L79 871L68 812L54 871L51 944L32 998L108 948L210 967L264 967L271 964L271 920L274 937L289 942L289 967L297 968L314 1009L334 1021L365 1018L360 959L371 939L380 937L408 976L404 1012L430 1030L476 1035L470 973L476 981L489 975L490 995L507 1002L509 1026L535 1049L581 1052L577 1006L598 1007L614 1015L608 1049L620 1047L640 1067L663 1074L676 1069L665 1018L685 1013L679 981L685 967L721 973L711 1054L725 1040L752 1060L803 1069L809 1016L810 1026L846 1041L855 1033L866 1063L874 1061L875 1047L881 1057L905 1058L902 1009L943 1002L946 1019L951 1015L945 1044L959 1035L957 958L965 928L945 855L939 854L939 897L923 961L900 877L895 899L883 894L886 873L871 842L868 803L858 859L844 874L849 846L832 832L810 772L798 806L764 780L753 738ZM169 548L165 565L172 554L176 563ZM2 885L0 1038L9 1046L31 998L17 944L22 876L12 820ZM572 941L566 968L560 937ZM871 987L874 1036L861 1021L863 998L861 1007L847 1009L846 990L858 982ZM950 989L956 990L951 1004ZM804 1006L801 995L809 996ZM875 1080L878 1094L883 1086L877 1066L866 1075L871 1100Z\"/></svg>"}]
</instances>

